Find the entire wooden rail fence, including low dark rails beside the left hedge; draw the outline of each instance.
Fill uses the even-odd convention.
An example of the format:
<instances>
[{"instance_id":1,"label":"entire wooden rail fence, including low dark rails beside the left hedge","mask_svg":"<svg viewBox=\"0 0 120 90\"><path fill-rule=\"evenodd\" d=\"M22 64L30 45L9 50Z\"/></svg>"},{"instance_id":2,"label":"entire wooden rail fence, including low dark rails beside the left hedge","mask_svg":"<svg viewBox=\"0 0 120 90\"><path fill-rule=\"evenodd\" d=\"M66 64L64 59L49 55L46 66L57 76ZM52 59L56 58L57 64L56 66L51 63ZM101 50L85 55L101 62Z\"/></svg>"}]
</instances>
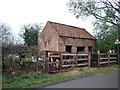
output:
<instances>
[{"instance_id":1,"label":"entire wooden rail fence, including low dark rails beside the left hedge","mask_svg":"<svg viewBox=\"0 0 120 90\"><path fill-rule=\"evenodd\" d=\"M48 54L48 53L47 53ZM116 53L99 53L97 63L98 66L110 65L111 63L117 63ZM60 70L66 67L78 67L78 66L91 66L91 54L90 53L52 53L46 55L43 61L26 62L25 70L19 70L18 72L34 72L42 71L49 73L51 71ZM17 65L17 64L15 64ZM30 67L30 68L28 68Z\"/></svg>"}]
</instances>

